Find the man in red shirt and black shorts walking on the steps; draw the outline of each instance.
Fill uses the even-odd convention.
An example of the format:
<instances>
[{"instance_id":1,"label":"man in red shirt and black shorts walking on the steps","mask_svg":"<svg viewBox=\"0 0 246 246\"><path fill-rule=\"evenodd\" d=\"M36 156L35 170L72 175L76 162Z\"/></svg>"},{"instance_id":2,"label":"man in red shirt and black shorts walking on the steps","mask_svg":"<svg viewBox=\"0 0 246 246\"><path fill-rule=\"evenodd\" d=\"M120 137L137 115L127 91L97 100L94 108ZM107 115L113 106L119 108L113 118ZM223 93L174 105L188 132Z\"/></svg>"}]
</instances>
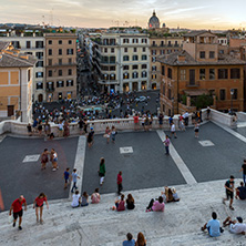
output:
<instances>
[{"instance_id":1,"label":"man in red shirt and black shorts walking on the steps","mask_svg":"<svg viewBox=\"0 0 246 246\"><path fill-rule=\"evenodd\" d=\"M13 201L9 211L10 216L11 216L11 213L13 212L13 227L16 226L17 219L19 217L19 227L18 227L19 229L22 229L21 227L22 215L23 215L22 204L24 204L24 211L27 211L27 201L23 197L23 195L21 195L19 198Z\"/></svg>"}]
</instances>

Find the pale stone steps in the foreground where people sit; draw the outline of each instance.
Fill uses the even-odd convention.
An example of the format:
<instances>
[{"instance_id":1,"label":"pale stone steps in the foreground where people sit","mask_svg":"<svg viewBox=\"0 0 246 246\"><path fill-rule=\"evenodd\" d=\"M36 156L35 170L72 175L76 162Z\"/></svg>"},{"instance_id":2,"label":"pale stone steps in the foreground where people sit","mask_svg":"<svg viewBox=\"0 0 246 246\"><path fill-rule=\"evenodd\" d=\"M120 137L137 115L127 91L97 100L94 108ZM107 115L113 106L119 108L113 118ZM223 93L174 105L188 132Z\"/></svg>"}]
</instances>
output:
<instances>
[{"instance_id":1,"label":"pale stone steps in the foreground where people sit","mask_svg":"<svg viewBox=\"0 0 246 246\"><path fill-rule=\"evenodd\" d=\"M221 223L227 215L233 218L242 216L246 221L246 202L235 201L234 212L228 209L228 204L222 204L224 182L176 186L181 201L166 204L164 213L145 212L150 199L157 197L163 187L131 192L136 207L125 212L110 209L115 194L102 195L100 204L80 208L71 208L69 199L49 201L50 209L44 206L43 225L35 223L34 209L30 205L23 215L21 232L9 224L8 212L3 212L0 214L0 245L120 246L126 233L131 232L136 238L142 232L148 246L243 246L246 245L246 236L233 235L228 228L218 238L201 232L213 211L217 212Z\"/></svg>"}]
</instances>

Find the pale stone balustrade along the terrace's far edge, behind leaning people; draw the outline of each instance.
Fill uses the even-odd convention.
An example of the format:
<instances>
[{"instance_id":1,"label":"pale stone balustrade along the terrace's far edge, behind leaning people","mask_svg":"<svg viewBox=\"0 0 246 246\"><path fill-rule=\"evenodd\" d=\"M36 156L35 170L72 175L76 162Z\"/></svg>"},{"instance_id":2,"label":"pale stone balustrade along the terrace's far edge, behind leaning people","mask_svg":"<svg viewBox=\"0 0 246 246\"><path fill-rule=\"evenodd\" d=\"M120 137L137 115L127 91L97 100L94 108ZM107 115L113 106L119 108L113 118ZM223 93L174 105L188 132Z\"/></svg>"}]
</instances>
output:
<instances>
[{"instance_id":1,"label":"pale stone balustrade along the terrace's far edge, behind leaning people","mask_svg":"<svg viewBox=\"0 0 246 246\"><path fill-rule=\"evenodd\" d=\"M206 109L202 110L202 120L206 119ZM216 110L211 110L211 120L215 121L217 123L222 123L224 125L227 125L229 127L234 127L235 123L233 122L233 116L229 114L225 114L222 112L218 112ZM142 119L140 117L140 123L137 124L137 130L143 130ZM176 126L176 130L178 130L178 115L174 115L173 122ZM135 124L133 117L129 119L112 119L112 120L95 120L95 121L88 121L89 126L88 131L90 131L90 127L93 127L95 133L104 133L106 126L112 127L112 125L115 126L117 131L133 131L135 130ZM189 114L188 117L188 124L192 125L192 114ZM51 132L54 134L54 136L59 135L59 129L58 124L50 123ZM71 123L70 124L70 135L79 135L80 130L78 126L78 123ZM152 122L152 129L157 130L160 129L158 125L158 119L154 117ZM163 119L163 130L170 130L170 123L168 123L168 116L165 116ZM0 135L4 133L12 133L17 135L28 135L27 130L27 123L22 123L20 121L3 121L0 122ZM33 133L33 135L38 136L38 133Z\"/></svg>"}]
</instances>

